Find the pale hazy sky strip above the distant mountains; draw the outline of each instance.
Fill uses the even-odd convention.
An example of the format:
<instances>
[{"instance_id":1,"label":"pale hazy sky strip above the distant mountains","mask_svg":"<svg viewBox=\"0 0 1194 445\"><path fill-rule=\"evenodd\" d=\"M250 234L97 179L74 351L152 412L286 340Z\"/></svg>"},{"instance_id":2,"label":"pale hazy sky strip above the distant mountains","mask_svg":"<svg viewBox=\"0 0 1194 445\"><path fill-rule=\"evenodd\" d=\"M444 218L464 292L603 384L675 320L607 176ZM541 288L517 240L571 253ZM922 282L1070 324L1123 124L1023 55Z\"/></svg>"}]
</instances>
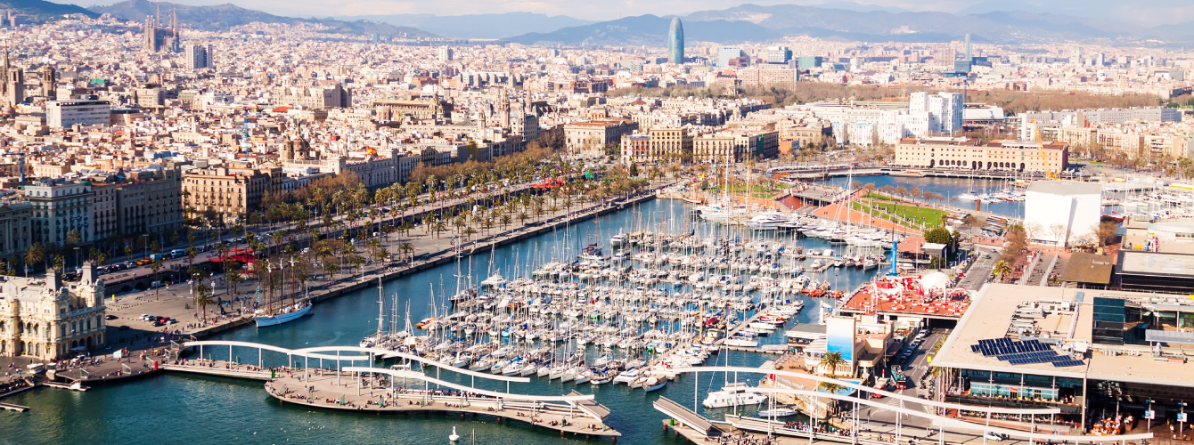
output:
<instances>
[{"instance_id":1,"label":"pale hazy sky strip above the distant mountains","mask_svg":"<svg viewBox=\"0 0 1194 445\"><path fill-rule=\"evenodd\" d=\"M56 1L68 2L68 0ZM75 1L80 6L113 2L117 0ZM613 20L641 14L683 16L751 2L764 6L823 5L850 10L938 11L961 14L1021 10L1131 21L1149 26L1194 21L1194 0L173 0L173 2L186 5L233 2L241 7L287 17L536 12L586 20Z\"/></svg>"}]
</instances>

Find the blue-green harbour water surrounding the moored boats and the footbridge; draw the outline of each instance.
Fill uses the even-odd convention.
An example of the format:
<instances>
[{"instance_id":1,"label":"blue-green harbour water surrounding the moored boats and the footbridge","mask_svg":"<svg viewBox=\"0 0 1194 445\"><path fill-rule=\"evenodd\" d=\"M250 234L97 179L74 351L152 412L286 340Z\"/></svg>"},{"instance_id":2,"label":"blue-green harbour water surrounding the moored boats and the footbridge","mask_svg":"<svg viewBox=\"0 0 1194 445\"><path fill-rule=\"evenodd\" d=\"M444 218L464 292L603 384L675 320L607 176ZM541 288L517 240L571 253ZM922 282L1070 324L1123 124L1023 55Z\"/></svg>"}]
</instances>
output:
<instances>
[{"instance_id":1,"label":"blue-green harbour water surrounding the moored boats and the footbridge","mask_svg":"<svg viewBox=\"0 0 1194 445\"><path fill-rule=\"evenodd\" d=\"M880 178L863 178L876 183ZM924 181L916 179L913 181ZM931 180L929 180L931 181ZM909 181L899 179L900 185ZM919 186L919 185L918 185ZM942 191L919 186L922 190ZM965 186L958 186L961 193ZM1009 203L1013 204L1013 203ZM1018 204L1018 203L1016 203ZM998 205L998 204L997 204ZM836 253L845 246L830 246L820 239L793 239L792 235L775 233L750 233L744 227L722 227L694 222L690 208L679 200L652 200L633 209L585 221L567 229L527 239L492 252L462 258L448 264L384 283L387 301L396 296L405 307L408 303L412 323L442 314L444 297L451 296L457 282L478 284L493 272L507 278L528 276L537 265L547 261L574 259L587 245L597 242L609 248L610 236L623 231L665 231L672 234L697 234L704 239L733 237L783 237L789 246L808 249L833 248ZM849 292L879 271L833 267L814 278L829 282L833 290ZM461 278L463 277L463 278ZM663 284L659 284L663 285ZM276 345L287 348L313 346L357 345L362 338L377 330L378 295L376 289L367 289L352 295L319 303L314 315L298 321L267 328L245 327L215 335L213 340L240 340ZM807 296L805 309L794 316L799 323L816 323L820 302ZM827 302L832 302L826 299ZM745 316L745 315L743 315ZM787 327L792 326L789 321ZM757 338L761 345L784 344L782 330ZM590 346L593 350L595 346ZM205 357L228 359L226 348L207 351ZM590 356L595 354L590 352ZM713 354L707 365L758 366L777 356L750 352L725 352ZM235 360L256 364L256 350L238 348ZM266 352L266 365L284 365L285 356ZM312 365L315 365L314 363ZM328 367L331 364L325 364ZM345 363L345 365L349 365ZM436 369L427 371L435 375ZM756 384L763 375L738 376L738 381ZM445 381L469 384L453 372L444 371ZM624 384L577 385L560 383L546 377L530 377L530 383L511 385L512 393L537 395L564 395L576 389L583 394L596 394L596 401L613 414L605 424L621 432L621 443L628 444L681 444L683 438L660 432L664 415L652 408L652 402L666 396L685 406L694 406L694 396L703 398L709 390L720 389L734 376L706 372L694 377L684 375L664 389L645 394ZM494 384L476 383L480 388L505 390ZM445 443L455 426L462 435L461 443L478 444L559 444L597 441L584 437L567 435L534 427L518 421L498 421L490 416L453 416L444 414L382 414L352 413L319 409L289 403L279 403L269 396L260 382L233 378L201 377L165 373L134 379L125 383L96 385L86 393L37 389L6 398L5 402L31 407L26 413L0 414L0 444L117 444L129 440L153 440L187 444L430 444ZM732 409L704 409L696 403L696 410L713 419L721 419ZM752 414L756 408L743 409ZM608 439L605 439L608 440Z\"/></svg>"}]
</instances>

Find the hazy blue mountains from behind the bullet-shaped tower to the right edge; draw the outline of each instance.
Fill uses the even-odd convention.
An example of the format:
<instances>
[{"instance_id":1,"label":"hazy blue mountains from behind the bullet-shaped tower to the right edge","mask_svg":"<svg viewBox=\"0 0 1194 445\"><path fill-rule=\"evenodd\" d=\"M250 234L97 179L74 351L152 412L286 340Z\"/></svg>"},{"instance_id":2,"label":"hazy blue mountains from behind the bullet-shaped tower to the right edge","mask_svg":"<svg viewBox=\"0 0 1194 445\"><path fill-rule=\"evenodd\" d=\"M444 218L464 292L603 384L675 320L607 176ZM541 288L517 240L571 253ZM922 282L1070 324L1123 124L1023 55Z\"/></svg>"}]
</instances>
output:
<instances>
[{"instance_id":1,"label":"hazy blue mountains from behind the bullet-shaped tower to the right edge","mask_svg":"<svg viewBox=\"0 0 1194 445\"><path fill-rule=\"evenodd\" d=\"M784 36L811 36L862 42L949 42L972 35L975 42L1038 43L1053 41L1137 39L1155 35L1137 25L1085 17L1022 11L955 16L944 12L850 11L799 5L740 5L681 17L688 41L740 43ZM639 16L531 32L511 37L519 43L663 44L670 17ZM1174 26L1173 32L1177 32Z\"/></svg>"}]
</instances>

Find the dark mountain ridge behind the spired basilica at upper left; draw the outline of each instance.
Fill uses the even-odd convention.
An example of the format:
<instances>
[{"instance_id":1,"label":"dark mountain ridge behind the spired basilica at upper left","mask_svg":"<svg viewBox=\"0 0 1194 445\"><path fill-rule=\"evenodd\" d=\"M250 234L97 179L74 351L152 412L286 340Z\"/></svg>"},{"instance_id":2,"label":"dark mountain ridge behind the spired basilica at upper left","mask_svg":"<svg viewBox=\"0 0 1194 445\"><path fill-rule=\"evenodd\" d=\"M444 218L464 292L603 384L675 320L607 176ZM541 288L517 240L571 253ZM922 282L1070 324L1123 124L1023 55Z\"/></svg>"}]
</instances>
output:
<instances>
[{"instance_id":1,"label":"dark mountain ridge behind the spired basilica at upper left","mask_svg":"<svg viewBox=\"0 0 1194 445\"><path fill-rule=\"evenodd\" d=\"M0 0L2 1L2 0ZM156 13L159 6L161 7L162 21L166 21L170 13L178 14L178 21L186 26L205 30L205 31L223 31L233 26L246 25L254 21L260 23L282 23L282 24L295 24L295 23L318 23L328 26L327 32L339 32L350 33L359 36L370 36L377 33L378 36L393 37L393 36L410 36L410 37L437 37L431 32L426 32L419 29L410 26L394 26L387 23L376 23L370 20L337 20L333 18L319 19L303 19L294 17L281 17L273 16L266 12L246 10L233 4L213 5L213 6L191 6L191 5L179 5L170 2L150 2L147 0L127 0L107 6L92 6L91 11L93 13L100 14L112 14L115 17L125 20L137 20L142 21L148 16Z\"/></svg>"}]
</instances>

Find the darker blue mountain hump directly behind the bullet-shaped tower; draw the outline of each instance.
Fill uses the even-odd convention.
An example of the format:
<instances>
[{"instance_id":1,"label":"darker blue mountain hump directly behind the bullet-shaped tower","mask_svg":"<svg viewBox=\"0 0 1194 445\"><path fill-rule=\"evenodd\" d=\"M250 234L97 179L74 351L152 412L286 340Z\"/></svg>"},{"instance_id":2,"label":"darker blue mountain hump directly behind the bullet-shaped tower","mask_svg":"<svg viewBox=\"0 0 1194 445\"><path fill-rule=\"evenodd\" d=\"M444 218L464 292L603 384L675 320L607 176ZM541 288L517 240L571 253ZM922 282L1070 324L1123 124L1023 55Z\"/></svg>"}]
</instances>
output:
<instances>
[{"instance_id":1,"label":"darker blue mountain hump directly behind the bullet-shaped tower","mask_svg":"<svg viewBox=\"0 0 1194 445\"><path fill-rule=\"evenodd\" d=\"M553 32L530 32L509 38L510 42L534 44L553 42L567 45L629 44L657 45L666 39L671 17L638 16L571 26ZM684 39L690 42L763 42L781 35L744 20L684 21Z\"/></svg>"}]
</instances>

